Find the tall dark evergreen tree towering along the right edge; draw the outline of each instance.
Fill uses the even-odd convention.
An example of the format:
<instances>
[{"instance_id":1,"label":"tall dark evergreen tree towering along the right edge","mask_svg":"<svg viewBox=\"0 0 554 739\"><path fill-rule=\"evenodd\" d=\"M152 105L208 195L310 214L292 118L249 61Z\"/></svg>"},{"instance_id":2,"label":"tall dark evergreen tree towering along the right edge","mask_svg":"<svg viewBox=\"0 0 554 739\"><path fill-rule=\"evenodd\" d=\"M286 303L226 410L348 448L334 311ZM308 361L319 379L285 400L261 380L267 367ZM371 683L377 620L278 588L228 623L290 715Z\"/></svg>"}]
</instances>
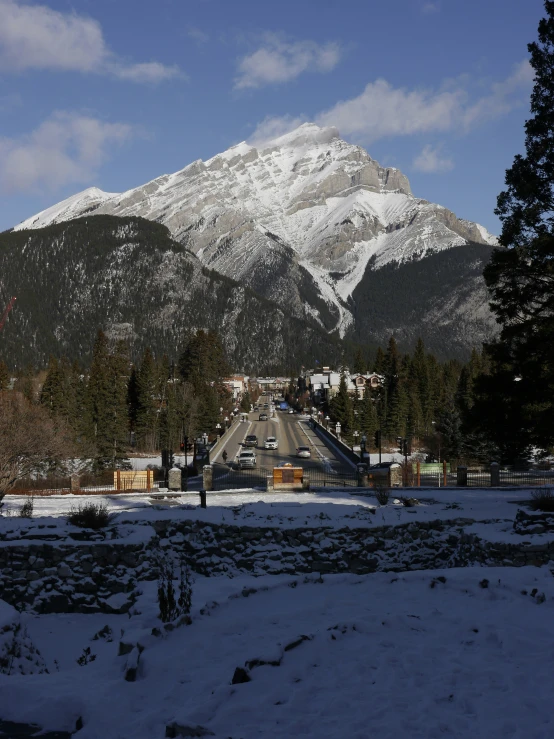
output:
<instances>
[{"instance_id":1,"label":"tall dark evergreen tree towering along the right edge","mask_svg":"<svg viewBox=\"0 0 554 739\"><path fill-rule=\"evenodd\" d=\"M495 250L484 271L501 334L488 347L492 376L479 386L482 413L492 414L482 428L505 451L507 432L517 438L514 453L554 443L554 2L544 5L538 41L528 46L535 83L526 153L507 170L496 209L508 248Z\"/></svg>"}]
</instances>

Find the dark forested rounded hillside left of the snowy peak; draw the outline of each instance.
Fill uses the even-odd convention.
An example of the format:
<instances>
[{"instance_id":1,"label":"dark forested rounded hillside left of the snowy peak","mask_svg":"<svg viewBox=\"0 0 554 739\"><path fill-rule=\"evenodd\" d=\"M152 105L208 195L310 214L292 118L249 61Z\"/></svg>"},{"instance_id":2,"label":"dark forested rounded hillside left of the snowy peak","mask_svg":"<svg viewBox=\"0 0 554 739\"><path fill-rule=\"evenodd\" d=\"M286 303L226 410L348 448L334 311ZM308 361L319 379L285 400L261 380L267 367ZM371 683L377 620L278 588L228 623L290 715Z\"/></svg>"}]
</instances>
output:
<instances>
[{"instance_id":1,"label":"dark forested rounded hillside left of the snowy peak","mask_svg":"<svg viewBox=\"0 0 554 739\"><path fill-rule=\"evenodd\" d=\"M235 371L290 371L314 358L338 363L344 344L207 269L165 226L88 216L0 234L0 302L17 296L0 337L13 369L49 356L90 363L98 329L176 358L197 329L217 331Z\"/></svg>"}]
</instances>

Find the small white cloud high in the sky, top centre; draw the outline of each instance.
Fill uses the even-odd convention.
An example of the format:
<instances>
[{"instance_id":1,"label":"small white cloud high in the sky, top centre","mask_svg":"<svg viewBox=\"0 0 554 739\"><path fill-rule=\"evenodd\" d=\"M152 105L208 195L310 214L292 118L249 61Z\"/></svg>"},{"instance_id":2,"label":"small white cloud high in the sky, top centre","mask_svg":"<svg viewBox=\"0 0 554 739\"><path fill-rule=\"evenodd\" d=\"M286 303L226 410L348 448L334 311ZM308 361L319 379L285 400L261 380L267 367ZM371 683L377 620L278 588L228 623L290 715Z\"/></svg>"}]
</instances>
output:
<instances>
[{"instance_id":1,"label":"small white cloud high in the sky, top centre","mask_svg":"<svg viewBox=\"0 0 554 739\"><path fill-rule=\"evenodd\" d=\"M267 34L264 44L240 61L235 88L288 82L303 72L330 72L339 63L340 55L336 43L287 42Z\"/></svg>"}]
</instances>

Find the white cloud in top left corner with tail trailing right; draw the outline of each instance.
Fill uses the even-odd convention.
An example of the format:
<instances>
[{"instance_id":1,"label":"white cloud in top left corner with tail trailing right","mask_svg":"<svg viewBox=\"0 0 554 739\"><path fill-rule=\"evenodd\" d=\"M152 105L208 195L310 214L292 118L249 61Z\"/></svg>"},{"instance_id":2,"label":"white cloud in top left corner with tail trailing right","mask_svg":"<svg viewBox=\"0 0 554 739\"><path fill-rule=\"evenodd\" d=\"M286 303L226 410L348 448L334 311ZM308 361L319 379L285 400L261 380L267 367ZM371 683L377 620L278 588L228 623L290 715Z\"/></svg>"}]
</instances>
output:
<instances>
[{"instance_id":1,"label":"white cloud in top left corner with tail trailing right","mask_svg":"<svg viewBox=\"0 0 554 739\"><path fill-rule=\"evenodd\" d=\"M135 82L157 82L179 73L159 62L122 62L106 46L93 18L0 0L0 71L27 69L96 72Z\"/></svg>"}]
</instances>

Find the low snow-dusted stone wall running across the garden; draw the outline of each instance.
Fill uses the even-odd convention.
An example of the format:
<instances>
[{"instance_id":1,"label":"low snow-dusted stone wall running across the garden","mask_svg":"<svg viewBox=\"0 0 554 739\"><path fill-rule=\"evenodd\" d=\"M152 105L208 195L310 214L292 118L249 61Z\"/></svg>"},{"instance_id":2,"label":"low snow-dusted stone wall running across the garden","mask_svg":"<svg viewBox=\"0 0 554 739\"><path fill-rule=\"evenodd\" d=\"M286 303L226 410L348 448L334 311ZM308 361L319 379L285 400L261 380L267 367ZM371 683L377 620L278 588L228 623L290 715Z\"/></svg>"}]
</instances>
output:
<instances>
[{"instance_id":1,"label":"low snow-dusted stone wall running across the garden","mask_svg":"<svg viewBox=\"0 0 554 739\"><path fill-rule=\"evenodd\" d=\"M514 544L466 533L474 523L466 518L342 529L326 527L323 520L317 528L294 529L163 520L135 525L139 535L134 538L127 527L131 541L117 526L102 534L82 532L80 540L29 531L30 540L4 537L0 542L0 599L37 613L125 613L136 600L137 583L157 578L156 560L163 552L184 556L195 572L206 576L401 572L554 561L554 541L526 539L550 531L552 522L545 518L538 523L537 516L530 516L527 526L526 516L516 517L514 531L521 539ZM531 530L533 522L541 532Z\"/></svg>"}]
</instances>

